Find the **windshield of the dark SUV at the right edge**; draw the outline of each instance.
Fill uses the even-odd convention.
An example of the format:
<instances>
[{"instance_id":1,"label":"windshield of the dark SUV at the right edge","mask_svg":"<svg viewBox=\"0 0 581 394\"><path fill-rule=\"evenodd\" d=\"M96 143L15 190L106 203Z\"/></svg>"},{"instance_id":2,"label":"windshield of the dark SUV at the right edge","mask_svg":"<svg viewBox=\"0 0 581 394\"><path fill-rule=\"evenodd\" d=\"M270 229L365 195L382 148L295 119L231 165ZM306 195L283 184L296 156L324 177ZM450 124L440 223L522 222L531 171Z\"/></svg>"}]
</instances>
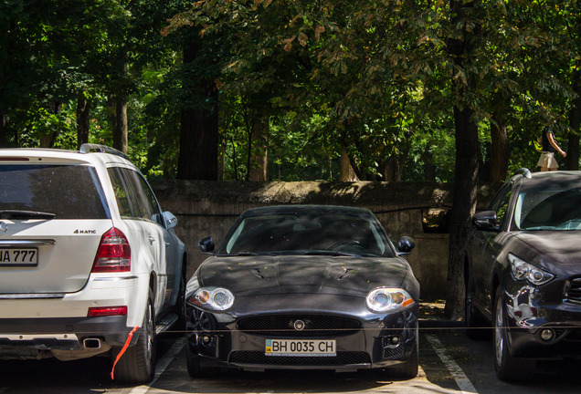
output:
<instances>
[{"instance_id":1,"label":"windshield of the dark SUV at the right edge","mask_svg":"<svg viewBox=\"0 0 581 394\"><path fill-rule=\"evenodd\" d=\"M581 188L521 192L513 221L519 230L581 230Z\"/></svg>"}]
</instances>

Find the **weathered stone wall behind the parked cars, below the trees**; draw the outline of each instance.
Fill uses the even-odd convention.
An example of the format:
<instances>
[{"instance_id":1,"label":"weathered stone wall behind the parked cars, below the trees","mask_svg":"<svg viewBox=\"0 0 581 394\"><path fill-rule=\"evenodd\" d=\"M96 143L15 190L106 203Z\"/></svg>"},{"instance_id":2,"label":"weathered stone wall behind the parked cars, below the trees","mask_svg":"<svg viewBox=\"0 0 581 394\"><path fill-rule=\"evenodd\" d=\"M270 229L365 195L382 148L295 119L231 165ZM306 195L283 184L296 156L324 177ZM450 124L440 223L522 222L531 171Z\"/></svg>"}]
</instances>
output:
<instances>
[{"instance_id":1,"label":"weathered stone wall behind the parked cars, below the trees","mask_svg":"<svg viewBox=\"0 0 581 394\"><path fill-rule=\"evenodd\" d=\"M178 218L175 232L185 242L188 275L207 257L197 241L211 235L219 244L238 215L248 208L275 204L333 204L364 207L375 213L394 241L416 240L407 256L421 285L422 299L446 296L449 235L446 213L453 185L409 182L215 182L153 181L164 211ZM479 202L490 200L482 187Z\"/></svg>"}]
</instances>

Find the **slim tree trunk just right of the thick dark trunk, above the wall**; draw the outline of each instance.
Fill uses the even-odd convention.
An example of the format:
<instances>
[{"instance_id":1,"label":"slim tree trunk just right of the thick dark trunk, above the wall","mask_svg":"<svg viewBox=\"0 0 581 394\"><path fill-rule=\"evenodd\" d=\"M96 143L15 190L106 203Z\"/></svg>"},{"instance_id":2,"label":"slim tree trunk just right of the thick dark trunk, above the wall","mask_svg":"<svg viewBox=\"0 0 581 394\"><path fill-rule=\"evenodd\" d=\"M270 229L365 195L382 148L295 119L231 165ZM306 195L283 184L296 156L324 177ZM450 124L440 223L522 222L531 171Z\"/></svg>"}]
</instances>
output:
<instances>
[{"instance_id":1,"label":"slim tree trunk just right of the thick dark trunk, above the wall","mask_svg":"<svg viewBox=\"0 0 581 394\"><path fill-rule=\"evenodd\" d=\"M252 119L252 139L248 149L250 163L248 181L269 180L269 117L259 115Z\"/></svg>"}]
</instances>

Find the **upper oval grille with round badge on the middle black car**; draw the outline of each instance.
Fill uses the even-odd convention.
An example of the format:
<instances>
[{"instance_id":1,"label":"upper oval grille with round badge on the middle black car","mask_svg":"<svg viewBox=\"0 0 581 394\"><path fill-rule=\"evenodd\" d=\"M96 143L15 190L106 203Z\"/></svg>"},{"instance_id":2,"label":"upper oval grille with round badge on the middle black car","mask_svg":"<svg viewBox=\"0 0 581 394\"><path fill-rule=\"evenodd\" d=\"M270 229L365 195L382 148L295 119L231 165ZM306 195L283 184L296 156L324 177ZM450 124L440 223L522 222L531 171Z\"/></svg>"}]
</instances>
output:
<instances>
[{"instance_id":1,"label":"upper oval grille with round badge on the middle black car","mask_svg":"<svg viewBox=\"0 0 581 394\"><path fill-rule=\"evenodd\" d=\"M361 322L353 318L321 315L255 316L242 318L237 323L240 331L266 337L342 337L362 327Z\"/></svg>"}]
</instances>

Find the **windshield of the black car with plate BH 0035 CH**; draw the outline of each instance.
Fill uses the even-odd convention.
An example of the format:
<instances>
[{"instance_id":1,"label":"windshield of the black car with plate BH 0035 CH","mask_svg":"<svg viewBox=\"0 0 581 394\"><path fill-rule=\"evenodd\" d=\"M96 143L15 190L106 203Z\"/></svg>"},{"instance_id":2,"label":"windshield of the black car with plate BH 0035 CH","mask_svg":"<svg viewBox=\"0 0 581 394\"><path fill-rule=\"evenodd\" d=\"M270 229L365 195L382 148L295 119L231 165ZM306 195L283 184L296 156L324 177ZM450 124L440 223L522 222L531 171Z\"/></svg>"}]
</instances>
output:
<instances>
[{"instance_id":1,"label":"windshield of the black car with plate BH 0035 CH","mask_svg":"<svg viewBox=\"0 0 581 394\"><path fill-rule=\"evenodd\" d=\"M345 213L249 216L238 222L218 255L394 255L379 223Z\"/></svg>"}]
</instances>

